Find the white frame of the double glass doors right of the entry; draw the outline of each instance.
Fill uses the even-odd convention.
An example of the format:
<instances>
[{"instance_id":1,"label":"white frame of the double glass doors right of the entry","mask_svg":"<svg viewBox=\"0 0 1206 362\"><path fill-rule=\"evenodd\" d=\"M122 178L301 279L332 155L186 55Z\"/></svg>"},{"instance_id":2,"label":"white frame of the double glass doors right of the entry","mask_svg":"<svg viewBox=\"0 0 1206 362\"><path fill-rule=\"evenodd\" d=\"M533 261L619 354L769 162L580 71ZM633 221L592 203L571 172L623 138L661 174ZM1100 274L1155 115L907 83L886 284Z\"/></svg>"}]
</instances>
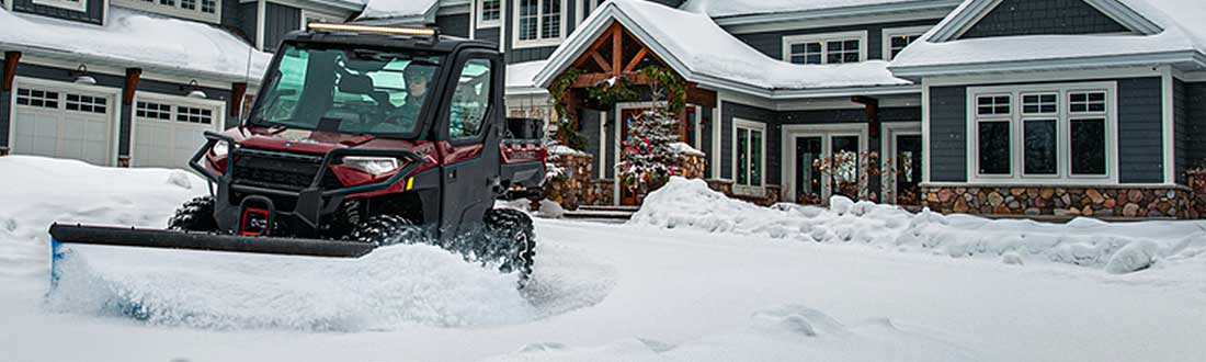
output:
<instances>
[{"instance_id":1,"label":"white frame of the double glass doors right of the entry","mask_svg":"<svg viewBox=\"0 0 1206 362\"><path fill-rule=\"evenodd\" d=\"M859 138L859 153L861 157L862 151L870 151L870 136L867 133L867 123L831 123L831 124L784 124L781 132L781 144L783 160L780 162L780 179L779 183L785 183L788 187L783 187L783 197L786 200L796 202L796 186L800 185L800 180L796 180L796 139L797 138L820 138L821 139L821 157L832 157L832 138L833 136L857 136ZM861 160L860 160L861 162ZM736 162L734 162L736 163ZM863 173L865 170L859 170ZM832 175L830 176L832 177ZM861 189L866 185L860 186ZM833 194L831 182L821 182L821 203L829 203L830 195Z\"/></svg>"}]
</instances>

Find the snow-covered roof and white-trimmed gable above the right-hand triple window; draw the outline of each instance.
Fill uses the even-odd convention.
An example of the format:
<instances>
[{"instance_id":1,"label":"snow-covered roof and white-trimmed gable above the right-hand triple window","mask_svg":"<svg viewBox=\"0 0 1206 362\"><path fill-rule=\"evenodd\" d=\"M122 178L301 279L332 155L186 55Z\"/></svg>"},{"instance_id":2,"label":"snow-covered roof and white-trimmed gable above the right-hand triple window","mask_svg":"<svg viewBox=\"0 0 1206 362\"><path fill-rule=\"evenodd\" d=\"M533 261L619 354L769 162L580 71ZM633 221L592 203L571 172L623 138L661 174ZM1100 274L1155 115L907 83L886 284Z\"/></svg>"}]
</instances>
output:
<instances>
[{"instance_id":1,"label":"snow-covered roof and white-trimmed gable above the right-hand triple window","mask_svg":"<svg viewBox=\"0 0 1206 362\"><path fill-rule=\"evenodd\" d=\"M1117 65L1206 69L1206 4L1201 0L1085 0L1132 34L958 36L993 10L964 1L891 63L898 76Z\"/></svg>"}]
</instances>

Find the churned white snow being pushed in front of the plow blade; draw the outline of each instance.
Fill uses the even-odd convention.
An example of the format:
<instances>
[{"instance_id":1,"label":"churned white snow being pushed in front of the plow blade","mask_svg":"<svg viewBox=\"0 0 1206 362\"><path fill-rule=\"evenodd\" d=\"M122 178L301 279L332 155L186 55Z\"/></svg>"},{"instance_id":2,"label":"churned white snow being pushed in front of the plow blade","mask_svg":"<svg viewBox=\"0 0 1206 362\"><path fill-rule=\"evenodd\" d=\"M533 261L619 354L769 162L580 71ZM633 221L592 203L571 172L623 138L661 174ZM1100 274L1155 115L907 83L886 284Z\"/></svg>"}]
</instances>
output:
<instances>
[{"instance_id":1,"label":"churned white snow being pushed in front of the plow blade","mask_svg":"<svg viewBox=\"0 0 1206 362\"><path fill-rule=\"evenodd\" d=\"M129 315L217 329L382 331L537 316L498 274L435 246L397 245L358 259L70 245L54 311Z\"/></svg>"}]
</instances>

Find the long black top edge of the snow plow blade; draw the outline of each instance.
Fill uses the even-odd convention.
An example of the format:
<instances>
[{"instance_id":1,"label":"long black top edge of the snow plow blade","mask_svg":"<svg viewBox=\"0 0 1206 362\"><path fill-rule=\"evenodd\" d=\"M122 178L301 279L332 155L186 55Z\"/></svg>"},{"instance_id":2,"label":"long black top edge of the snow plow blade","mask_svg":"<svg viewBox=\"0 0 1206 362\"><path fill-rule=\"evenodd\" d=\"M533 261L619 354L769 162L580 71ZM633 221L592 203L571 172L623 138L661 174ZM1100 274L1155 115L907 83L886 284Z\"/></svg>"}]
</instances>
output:
<instances>
[{"instance_id":1,"label":"long black top edge of the snow plow blade","mask_svg":"<svg viewBox=\"0 0 1206 362\"><path fill-rule=\"evenodd\" d=\"M205 251L251 252L291 256L358 258L376 246L343 240L293 239L273 237L236 237L210 233L186 233L96 226L51 226L51 252L60 258L64 244L90 244L131 247L188 249Z\"/></svg>"}]
</instances>

